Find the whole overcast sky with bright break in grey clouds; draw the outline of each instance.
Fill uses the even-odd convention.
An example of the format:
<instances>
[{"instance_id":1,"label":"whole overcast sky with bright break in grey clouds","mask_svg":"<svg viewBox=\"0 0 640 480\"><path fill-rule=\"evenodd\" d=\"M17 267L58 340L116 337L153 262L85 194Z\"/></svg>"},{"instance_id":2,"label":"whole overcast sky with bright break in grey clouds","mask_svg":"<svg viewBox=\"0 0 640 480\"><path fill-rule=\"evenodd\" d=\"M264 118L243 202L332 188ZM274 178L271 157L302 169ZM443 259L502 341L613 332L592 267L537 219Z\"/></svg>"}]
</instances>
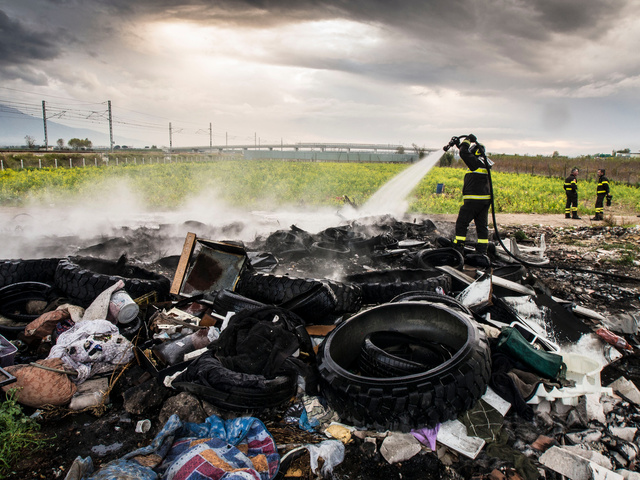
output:
<instances>
[{"instance_id":1,"label":"whole overcast sky with bright break in grey clouds","mask_svg":"<svg viewBox=\"0 0 640 480\"><path fill-rule=\"evenodd\" d=\"M0 0L0 103L173 146L640 150L639 0ZM40 111L39 111L40 110ZM63 113L64 112L64 113ZM38 139L41 140L41 139Z\"/></svg>"}]
</instances>

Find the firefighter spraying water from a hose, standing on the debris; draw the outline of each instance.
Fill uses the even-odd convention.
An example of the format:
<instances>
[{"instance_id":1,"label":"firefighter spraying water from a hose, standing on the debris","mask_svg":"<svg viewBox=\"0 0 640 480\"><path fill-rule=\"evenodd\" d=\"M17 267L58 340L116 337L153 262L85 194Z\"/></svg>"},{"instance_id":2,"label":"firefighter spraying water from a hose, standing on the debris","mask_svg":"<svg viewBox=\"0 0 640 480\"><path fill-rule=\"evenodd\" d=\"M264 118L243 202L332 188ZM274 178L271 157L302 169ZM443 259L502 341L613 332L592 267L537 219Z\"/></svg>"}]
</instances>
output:
<instances>
[{"instance_id":1,"label":"firefighter spraying water from a hose, standing on the debris","mask_svg":"<svg viewBox=\"0 0 640 480\"><path fill-rule=\"evenodd\" d=\"M489 188L489 172L484 146L478 143L475 135L468 135L460 141L452 139L460 151L460 158L469 167L464 176L462 187L462 206L456 220L456 236L453 246L464 253L467 241L467 229L471 220L476 225L478 241L476 252L485 255L489 247L489 207L491 206L491 190ZM489 163L489 166L491 163Z\"/></svg>"}]
</instances>

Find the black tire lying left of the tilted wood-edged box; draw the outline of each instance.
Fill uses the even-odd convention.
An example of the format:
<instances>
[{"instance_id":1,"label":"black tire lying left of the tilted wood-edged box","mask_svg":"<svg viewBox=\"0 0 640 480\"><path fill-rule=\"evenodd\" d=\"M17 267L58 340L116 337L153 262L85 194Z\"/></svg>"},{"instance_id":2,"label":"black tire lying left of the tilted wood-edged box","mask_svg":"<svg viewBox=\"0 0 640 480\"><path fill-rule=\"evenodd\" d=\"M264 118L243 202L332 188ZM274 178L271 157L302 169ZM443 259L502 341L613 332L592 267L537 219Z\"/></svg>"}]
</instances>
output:
<instances>
[{"instance_id":1,"label":"black tire lying left of the tilted wood-edged box","mask_svg":"<svg viewBox=\"0 0 640 480\"><path fill-rule=\"evenodd\" d=\"M170 280L157 273L96 258L60 260L54 285L73 302L88 307L100 293L118 280L124 281L124 289L133 299L151 292L157 292L160 298L164 298L171 287Z\"/></svg>"}]
</instances>

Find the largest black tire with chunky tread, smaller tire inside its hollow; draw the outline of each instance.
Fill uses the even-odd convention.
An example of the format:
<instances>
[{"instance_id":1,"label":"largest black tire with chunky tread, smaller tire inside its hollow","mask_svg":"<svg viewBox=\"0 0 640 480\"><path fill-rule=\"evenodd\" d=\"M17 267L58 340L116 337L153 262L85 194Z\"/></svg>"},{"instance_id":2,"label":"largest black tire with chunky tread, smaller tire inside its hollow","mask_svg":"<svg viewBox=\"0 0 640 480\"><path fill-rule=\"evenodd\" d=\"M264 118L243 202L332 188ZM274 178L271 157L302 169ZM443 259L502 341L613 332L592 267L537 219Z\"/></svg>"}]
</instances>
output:
<instances>
[{"instance_id":1,"label":"largest black tire with chunky tread, smaller tire inside its hollow","mask_svg":"<svg viewBox=\"0 0 640 480\"><path fill-rule=\"evenodd\" d=\"M447 345L455 353L436 368L400 377L354 373L365 337L390 330ZM348 424L407 432L434 427L468 410L486 391L491 352L469 316L444 305L389 303L339 324L320 345L321 391Z\"/></svg>"}]
</instances>

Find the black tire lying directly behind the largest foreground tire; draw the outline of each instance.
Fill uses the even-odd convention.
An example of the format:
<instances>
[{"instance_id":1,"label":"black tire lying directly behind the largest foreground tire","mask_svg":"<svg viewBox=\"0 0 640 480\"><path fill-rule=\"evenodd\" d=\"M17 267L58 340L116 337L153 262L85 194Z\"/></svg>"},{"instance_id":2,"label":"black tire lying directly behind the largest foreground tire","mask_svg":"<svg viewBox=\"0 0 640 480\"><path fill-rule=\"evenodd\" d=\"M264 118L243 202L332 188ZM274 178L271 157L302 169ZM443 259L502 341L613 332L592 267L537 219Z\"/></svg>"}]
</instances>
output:
<instances>
[{"instance_id":1,"label":"black tire lying directly behind the largest foreground tire","mask_svg":"<svg viewBox=\"0 0 640 480\"><path fill-rule=\"evenodd\" d=\"M362 302L375 305L391 301L410 291L435 292L439 287L451 291L451 276L436 269L402 269L367 272L346 277L346 281L359 285Z\"/></svg>"}]
</instances>

